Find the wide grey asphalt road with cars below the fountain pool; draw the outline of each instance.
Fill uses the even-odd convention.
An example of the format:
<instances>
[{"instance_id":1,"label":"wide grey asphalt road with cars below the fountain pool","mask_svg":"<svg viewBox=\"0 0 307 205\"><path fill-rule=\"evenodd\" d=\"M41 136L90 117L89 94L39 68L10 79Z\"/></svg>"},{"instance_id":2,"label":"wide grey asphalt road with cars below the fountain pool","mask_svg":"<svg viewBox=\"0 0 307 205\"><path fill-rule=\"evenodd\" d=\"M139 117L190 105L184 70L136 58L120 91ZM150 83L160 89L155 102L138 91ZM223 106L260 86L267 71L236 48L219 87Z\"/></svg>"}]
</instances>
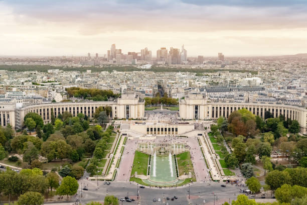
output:
<instances>
[{"instance_id":1,"label":"wide grey asphalt road with cars below the fountain pool","mask_svg":"<svg viewBox=\"0 0 307 205\"><path fill-rule=\"evenodd\" d=\"M81 198L81 188L78 190L78 198L81 199L82 204L86 204L90 201L103 201L104 197L108 195L115 195L118 198L122 198L125 196L129 196L136 199L137 193L137 185L133 183L123 183L123 182L111 182L110 185L103 185L103 181L99 181L98 186L99 189L97 191L97 181L87 181L87 180L79 180L79 184L81 182L88 186L87 191L82 191ZM237 194L239 193L239 188L232 185L226 185L226 187L221 187L221 184L225 183L217 183L211 182L211 185L208 186L206 183L193 183L190 185L190 200L189 200L189 185L178 188L139 188L140 195L140 203L139 204L165 204L168 202L170 205L173 204L203 204L204 200L205 204L213 204L213 193L215 193L218 197L218 202L215 204L222 204L222 202L229 201L235 199ZM80 186L81 187L81 186ZM236 194L236 195L235 195ZM171 200L171 197L177 196L178 199L174 201ZM163 203L163 196L165 196L165 203ZM166 200L166 197L170 197L170 200ZM156 198L157 202L153 202L153 199ZM161 198L161 202L158 202L158 199ZM65 199L65 197L64 197ZM72 197L72 200L75 200L76 197ZM62 203L53 203L53 204L62 204ZM73 204L67 203L67 204ZM120 203L121 204L121 203ZM137 200L133 202L123 201L123 204L137 204Z\"/></svg>"}]
</instances>

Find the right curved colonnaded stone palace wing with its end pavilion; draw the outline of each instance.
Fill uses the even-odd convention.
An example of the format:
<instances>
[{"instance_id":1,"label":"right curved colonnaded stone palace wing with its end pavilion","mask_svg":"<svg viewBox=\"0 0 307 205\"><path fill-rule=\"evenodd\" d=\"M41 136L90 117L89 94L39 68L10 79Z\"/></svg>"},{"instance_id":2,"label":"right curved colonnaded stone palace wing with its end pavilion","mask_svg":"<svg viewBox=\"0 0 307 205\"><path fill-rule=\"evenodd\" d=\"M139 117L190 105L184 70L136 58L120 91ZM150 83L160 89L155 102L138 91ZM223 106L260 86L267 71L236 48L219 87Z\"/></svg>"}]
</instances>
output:
<instances>
[{"instance_id":1,"label":"right curved colonnaded stone palace wing with its end pavilion","mask_svg":"<svg viewBox=\"0 0 307 205\"><path fill-rule=\"evenodd\" d=\"M304 107L268 103L207 102L207 98L200 93L191 93L179 101L179 115L184 120L215 120L220 116L228 118L232 112L243 108L263 119L265 111L269 111L274 118L283 115L285 119L297 120L300 132L307 134L307 110Z\"/></svg>"}]
</instances>

